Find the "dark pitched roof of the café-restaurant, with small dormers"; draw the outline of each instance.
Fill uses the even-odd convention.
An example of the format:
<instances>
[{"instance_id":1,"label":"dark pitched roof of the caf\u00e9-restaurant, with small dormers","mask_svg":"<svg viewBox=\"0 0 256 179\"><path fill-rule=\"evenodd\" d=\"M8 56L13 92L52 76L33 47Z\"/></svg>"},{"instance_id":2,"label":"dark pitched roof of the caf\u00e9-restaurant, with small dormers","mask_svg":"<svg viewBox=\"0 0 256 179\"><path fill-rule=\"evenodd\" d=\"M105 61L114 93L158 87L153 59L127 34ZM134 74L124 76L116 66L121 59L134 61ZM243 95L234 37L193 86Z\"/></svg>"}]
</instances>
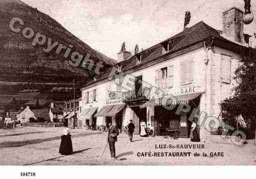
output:
<instances>
[{"instance_id":1,"label":"dark pitched roof of the caf\u00e9-restaurant, with small dormers","mask_svg":"<svg viewBox=\"0 0 256 179\"><path fill-rule=\"evenodd\" d=\"M215 39L219 39L228 43L235 43L230 40L227 40L223 36L221 36L221 31L217 30L209 25L207 25L205 22L200 21L197 24L186 28L184 31L148 48L140 53L137 53L136 55L131 56L127 60L121 61L116 64L122 65L122 71L126 72L128 70L131 70L135 67L142 66L144 64L147 64L149 62L154 61L157 57L160 57L162 55L175 53L179 50L188 48L196 43L202 42L206 39L209 39L211 37L214 37ZM162 54L162 44L163 43L169 43L169 51L165 54ZM236 44L238 46L242 46L239 44ZM141 63L137 64L137 55L141 55L142 61ZM93 83L102 81L107 79L111 72L111 68L107 69L103 74L99 75L98 79L96 81L89 81L84 87L89 86Z\"/></svg>"}]
</instances>

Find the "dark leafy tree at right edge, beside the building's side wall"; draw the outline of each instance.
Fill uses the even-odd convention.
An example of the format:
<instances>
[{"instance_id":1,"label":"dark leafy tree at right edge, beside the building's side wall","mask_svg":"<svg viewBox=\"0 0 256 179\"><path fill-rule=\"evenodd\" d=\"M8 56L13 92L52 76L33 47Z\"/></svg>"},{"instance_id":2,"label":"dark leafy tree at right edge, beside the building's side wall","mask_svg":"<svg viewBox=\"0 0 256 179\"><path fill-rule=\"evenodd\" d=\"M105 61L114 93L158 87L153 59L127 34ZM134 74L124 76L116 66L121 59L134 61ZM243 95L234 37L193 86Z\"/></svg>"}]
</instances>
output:
<instances>
[{"instance_id":1,"label":"dark leafy tree at right edge, beside the building's side wall","mask_svg":"<svg viewBox=\"0 0 256 179\"><path fill-rule=\"evenodd\" d=\"M222 117L225 123L236 127L236 116L242 115L250 128L247 137L254 138L250 130L256 128L256 49L242 54L244 58L235 71L238 86L233 89L235 95L223 101Z\"/></svg>"}]
</instances>

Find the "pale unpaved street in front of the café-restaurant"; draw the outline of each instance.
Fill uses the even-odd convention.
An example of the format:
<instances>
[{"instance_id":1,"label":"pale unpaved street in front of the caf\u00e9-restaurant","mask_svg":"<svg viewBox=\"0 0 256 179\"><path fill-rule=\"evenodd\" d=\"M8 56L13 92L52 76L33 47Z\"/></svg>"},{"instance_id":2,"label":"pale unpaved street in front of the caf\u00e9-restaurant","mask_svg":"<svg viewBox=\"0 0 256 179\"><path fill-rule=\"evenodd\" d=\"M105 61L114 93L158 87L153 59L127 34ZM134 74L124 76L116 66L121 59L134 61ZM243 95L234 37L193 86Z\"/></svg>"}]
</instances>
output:
<instances>
[{"instance_id":1,"label":"pale unpaved street in front of the caf\u00e9-restaurant","mask_svg":"<svg viewBox=\"0 0 256 179\"><path fill-rule=\"evenodd\" d=\"M61 130L62 128L28 127L1 129L0 165L256 165L256 147L250 142L235 146L136 135L134 142L130 143L125 134L118 136L117 160L110 159L108 146L100 159L106 145L107 133L81 129L71 130L74 154L63 156L58 153ZM188 146L187 144L203 144L205 149L180 149ZM179 149L166 148L165 145L179 146ZM163 149L159 149L159 146ZM195 157L196 152L201 156ZM223 153L224 157L211 157L211 152ZM148 156L149 153L151 156ZM170 157L170 153L190 153L190 156ZM203 157L202 153L207 154L207 157Z\"/></svg>"}]
</instances>

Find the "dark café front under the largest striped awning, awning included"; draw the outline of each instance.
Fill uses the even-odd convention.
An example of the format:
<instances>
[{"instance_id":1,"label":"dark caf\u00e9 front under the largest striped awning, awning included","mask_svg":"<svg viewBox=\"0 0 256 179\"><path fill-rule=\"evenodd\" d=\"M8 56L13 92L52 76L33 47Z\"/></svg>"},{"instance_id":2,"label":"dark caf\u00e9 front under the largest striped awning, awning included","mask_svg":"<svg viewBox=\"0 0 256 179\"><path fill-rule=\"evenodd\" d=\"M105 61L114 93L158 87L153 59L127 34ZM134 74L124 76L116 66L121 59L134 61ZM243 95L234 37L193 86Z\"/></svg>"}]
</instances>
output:
<instances>
[{"instance_id":1,"label":"dark caf\u00e9 front under the largest striped awning, awning included","mask_svg":"<svg viewBox=\"0 0 256 179\"><path fill-rule=\"evenodd\" d=\"M169 131L177 131L179 137L188 138L192 125L189 117L193 109L199 107L202 94L203 92L152 98L141 105L141 108L147 108L149 123L155 135L163 136L168 135ZM189 106L188 112L181 110L184 105Z\"/></svg>"}]
</instances>

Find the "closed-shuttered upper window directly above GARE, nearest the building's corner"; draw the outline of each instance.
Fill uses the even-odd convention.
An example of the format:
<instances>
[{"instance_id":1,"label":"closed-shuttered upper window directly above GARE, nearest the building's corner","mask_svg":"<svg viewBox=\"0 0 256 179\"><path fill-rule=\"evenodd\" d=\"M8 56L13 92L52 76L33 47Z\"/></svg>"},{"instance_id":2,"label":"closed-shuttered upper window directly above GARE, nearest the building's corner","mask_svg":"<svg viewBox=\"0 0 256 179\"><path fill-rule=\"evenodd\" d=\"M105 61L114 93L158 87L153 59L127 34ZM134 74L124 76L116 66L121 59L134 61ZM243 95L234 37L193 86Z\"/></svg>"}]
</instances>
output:
<instances>
[{"instance_id":1,"label":"closed-shuttered upper window directly above GARE, nearest the building's corner","mask_svg":"<svg viewBox=\"0 0 256 179\"><path fill-rule=\"evenodd\" d=\"M194 61L191 59L187 59L181 61L180 65L180 85L187 85L193 83L193 68Z\"/></svg>"}]
</instances>

